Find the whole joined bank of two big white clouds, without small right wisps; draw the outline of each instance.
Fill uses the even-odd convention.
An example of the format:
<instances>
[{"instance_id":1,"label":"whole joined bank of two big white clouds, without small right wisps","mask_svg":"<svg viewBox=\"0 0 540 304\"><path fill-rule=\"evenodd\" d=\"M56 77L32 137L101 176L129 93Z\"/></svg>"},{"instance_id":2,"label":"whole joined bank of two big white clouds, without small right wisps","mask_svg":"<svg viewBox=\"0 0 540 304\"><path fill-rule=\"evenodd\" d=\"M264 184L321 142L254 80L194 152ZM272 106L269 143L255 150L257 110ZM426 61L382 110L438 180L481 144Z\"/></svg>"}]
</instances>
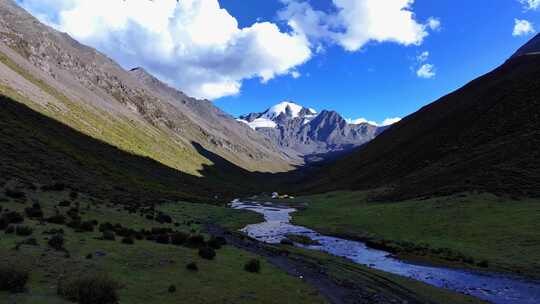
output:
<instances>
[{"instance_id":1,"label":"whole joined bank of two big white clouds, without small right wisps","mask_svg":"<svg viewBox=\"0 0 540 304\"><path fill-rule=\"evenodd\" d=\"M327 45L358 51L366 43L419 45L440 21L420 22L414 0L280 0L287 28L271 22L240 27L218 0L17 0L45 23L104 52L125 68L142 66L202 98L238 94L245 79L300 77L298 67Z\"/></svg>"}]
</instances>

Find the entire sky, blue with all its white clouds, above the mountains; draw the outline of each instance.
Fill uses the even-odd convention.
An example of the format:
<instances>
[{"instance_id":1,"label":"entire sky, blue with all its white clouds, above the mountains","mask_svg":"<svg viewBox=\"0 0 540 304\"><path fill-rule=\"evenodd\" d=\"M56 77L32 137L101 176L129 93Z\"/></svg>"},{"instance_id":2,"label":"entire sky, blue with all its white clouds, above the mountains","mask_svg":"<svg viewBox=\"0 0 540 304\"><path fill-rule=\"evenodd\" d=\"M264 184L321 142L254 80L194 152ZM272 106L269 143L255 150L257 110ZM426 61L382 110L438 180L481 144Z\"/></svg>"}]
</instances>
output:
<instances>
[{"instance_id":1,"label":"entire sky, blue with all its white clouds, above the mountains","mask_svg":"<svg viewBox=\"0 0 540 304\"><path fill-rule=\"evenodd\" d=\"M500 65L540 28L540 0L18 2L234 116L292 100L351 119L404 117ZM308 12L318 22L298 23ZM359 16L371 18L365 29ZM419 77L422 65L430 77Z\"/></svg>"}]
</instances>

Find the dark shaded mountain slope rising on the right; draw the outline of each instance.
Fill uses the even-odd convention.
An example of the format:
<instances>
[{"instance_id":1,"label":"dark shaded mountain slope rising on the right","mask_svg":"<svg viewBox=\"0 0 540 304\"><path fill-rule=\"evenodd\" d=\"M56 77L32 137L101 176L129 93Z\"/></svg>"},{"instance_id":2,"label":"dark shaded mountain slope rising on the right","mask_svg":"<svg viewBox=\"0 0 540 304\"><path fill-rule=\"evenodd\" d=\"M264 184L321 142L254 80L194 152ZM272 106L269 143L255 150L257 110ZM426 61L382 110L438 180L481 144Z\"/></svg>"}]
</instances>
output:
<instances>
[{"instance_id":1,"label":"dark shaded mountain slope rising on the right","mask_svg":"<svg viewBox=\"0 0 540 304\"><path fill-rule=\"evenodd\" d=\"M518 53L323 169L304 190L387 187L393 198L466 190L538 196L539 79L540 56Z\"/></svg>"}]
</instances>

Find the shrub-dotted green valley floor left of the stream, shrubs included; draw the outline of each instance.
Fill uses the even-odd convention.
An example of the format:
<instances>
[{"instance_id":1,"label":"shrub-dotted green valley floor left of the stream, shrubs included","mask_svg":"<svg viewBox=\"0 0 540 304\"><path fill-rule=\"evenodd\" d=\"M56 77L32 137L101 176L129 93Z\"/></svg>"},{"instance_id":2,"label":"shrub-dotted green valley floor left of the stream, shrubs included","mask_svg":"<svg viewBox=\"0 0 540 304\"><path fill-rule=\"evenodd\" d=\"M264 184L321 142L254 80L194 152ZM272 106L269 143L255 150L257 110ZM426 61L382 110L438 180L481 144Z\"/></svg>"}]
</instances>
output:
<instances>
[{"instance_id":1,"label":"shrub-dotted green valley floor left of the stream, shrubs included","mask_svg":"<svg viewBox=\"0 0 540 304\"><path fill-rule=\"evenodd\" d=\"M246 271L255 255L204 233L207 222L237 230L261 221L257 214L187 202L134 208L17 179L2 181L0 193L2 218L31 228L34 238L0 230L0 303L325 303L264 259L258 273ZM43 217L27 217L36 202Z\"/></svg>"}]
</instances>

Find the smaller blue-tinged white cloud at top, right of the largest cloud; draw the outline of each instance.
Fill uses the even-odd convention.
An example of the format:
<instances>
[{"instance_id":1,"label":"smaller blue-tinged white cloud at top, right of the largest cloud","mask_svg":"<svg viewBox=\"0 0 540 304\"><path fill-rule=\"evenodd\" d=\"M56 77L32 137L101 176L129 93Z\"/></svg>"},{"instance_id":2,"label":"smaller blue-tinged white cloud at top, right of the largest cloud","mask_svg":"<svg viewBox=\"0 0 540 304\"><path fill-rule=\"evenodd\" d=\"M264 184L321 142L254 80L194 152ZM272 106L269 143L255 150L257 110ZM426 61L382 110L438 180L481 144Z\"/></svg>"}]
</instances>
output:
<instances>
[{"instance_id":1,"label":"smaller blue-tinged white cloud at top, right of the largest cloud","mask_svg":"<svg viewBox=\"0 0 540 304\"><path fill-rule=\"evenodd\" d=\"M428 29L440 28L429 18L419 23L412 12L414 0L333 0L336 11L315 10L304 0L281 0L286 4L279 16L311 41L325 40L358 51L370 41L419 45Z\"/></svg>"}]
</instances>

